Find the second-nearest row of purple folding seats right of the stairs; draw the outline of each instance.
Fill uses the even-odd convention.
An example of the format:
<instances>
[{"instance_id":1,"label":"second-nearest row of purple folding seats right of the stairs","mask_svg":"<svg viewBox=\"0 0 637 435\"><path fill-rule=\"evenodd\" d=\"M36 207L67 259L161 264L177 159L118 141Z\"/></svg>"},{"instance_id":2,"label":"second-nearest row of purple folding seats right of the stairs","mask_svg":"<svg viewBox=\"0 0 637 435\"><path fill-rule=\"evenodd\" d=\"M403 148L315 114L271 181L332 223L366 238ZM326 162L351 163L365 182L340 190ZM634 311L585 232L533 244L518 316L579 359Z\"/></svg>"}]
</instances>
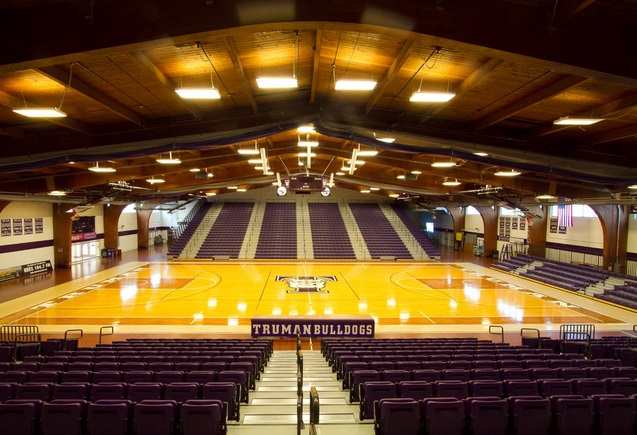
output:
<instances>
[{"instance_id":1,"label":"second-nearest row of purple folding seats right of the stairs","mask_svg":"<svg viewBox=\"0 0 637 435\"><path fill-rule=\"evenodd\" d=\"M417 394L424 395L422 397L456 397L464 399L472 396L495 396L510 397L519 395L541 395L550 397L556 394L581 394L583 396L592 396L595 394L621 394L623 396L631 396L637 394L637 380L627 378L608 378L605 380L591 378L566 379L420 379L409 380L396 378L383 378L374 375L372 372L357 373L352 380L353 384L350 388L350 402L361 402L365 400L366 388L368 385L394 385L396 397L412 397L412 391ZM371 387L370 387L371 388ZM406 389L406 390L404 390ZM374 399L377 400L377 399Z\"/></svg>"}]
</instances>

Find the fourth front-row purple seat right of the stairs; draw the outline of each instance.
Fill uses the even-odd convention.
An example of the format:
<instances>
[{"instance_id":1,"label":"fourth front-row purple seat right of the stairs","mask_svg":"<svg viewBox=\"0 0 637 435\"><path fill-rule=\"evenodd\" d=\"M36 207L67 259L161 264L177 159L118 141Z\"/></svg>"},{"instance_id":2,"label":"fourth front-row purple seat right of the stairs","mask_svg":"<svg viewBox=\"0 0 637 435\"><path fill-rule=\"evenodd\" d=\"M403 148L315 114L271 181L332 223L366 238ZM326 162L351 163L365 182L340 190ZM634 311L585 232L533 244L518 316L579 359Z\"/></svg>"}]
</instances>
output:
<instances>
[{"instance_id":1,"label":"fourth front-row purple seat right of the stairs","mask_svg":"<svg viewBox=\"0 0 637 435\"><path fill-rule=\"evenodd\" d=\"M551 428L551 402L540 396L509 399L511 435L548 435Z\"/></svg>"}]
</instances>

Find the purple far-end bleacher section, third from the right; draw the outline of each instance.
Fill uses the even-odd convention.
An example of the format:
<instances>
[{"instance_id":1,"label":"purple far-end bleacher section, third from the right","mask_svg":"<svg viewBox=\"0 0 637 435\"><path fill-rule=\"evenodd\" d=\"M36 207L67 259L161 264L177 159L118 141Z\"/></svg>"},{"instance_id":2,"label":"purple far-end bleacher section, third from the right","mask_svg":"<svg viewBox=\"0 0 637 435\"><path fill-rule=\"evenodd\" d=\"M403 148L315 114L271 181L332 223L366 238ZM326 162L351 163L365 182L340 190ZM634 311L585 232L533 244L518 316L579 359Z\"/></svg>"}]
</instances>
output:
<instances>
[{"instance_id":1,"label":"purple far-end bleacher section, third from the right","mask_svg":"<svg viewBox=\"0 0 637 435\"><path fill-rule=\"evenodd\" d=\"M336 203L308 203L315 259L355 259L354 248Z\"/></svg>"}]
</instances>

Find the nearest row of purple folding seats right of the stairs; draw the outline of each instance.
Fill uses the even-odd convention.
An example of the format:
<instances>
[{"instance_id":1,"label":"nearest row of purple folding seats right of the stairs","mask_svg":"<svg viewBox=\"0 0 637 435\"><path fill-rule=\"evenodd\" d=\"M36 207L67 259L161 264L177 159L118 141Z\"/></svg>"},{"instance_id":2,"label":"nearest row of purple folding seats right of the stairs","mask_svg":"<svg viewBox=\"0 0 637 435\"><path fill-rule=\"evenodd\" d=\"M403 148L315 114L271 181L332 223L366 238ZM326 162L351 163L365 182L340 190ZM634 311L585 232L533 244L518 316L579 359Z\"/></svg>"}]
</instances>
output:
<instances>
[{"instance_id":1,"label":"nearest row of purple folding seats right of the stairs","mask_svg":"<svg viewBox=\"0 0 637 435\"><path fill-rule=\"evenodd\" d=\"M579 395L381 398L376 435L632 435L636 398Z\"/></svg>"}]
</instances>

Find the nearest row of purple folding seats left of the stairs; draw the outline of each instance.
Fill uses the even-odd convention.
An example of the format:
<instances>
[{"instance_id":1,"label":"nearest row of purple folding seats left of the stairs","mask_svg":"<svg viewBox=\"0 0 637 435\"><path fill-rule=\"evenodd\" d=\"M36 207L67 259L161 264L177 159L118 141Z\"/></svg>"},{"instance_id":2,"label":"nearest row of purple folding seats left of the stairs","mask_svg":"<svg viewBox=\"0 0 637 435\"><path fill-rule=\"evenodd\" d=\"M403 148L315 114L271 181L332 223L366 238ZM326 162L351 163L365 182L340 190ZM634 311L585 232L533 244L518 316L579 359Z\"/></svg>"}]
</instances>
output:
<instances>
[{"instance_id":1,"label":"nearest row of purple folding seats left of the stairs","mask_svg":"<svg viewBox=\"0 0 637 435\"><path fill-rule=\"evenodd\" d=\"M225 404L188 400L11 400L0 404L0 427L11 435L224 435Z\"/></svg>"}]
</instances>

